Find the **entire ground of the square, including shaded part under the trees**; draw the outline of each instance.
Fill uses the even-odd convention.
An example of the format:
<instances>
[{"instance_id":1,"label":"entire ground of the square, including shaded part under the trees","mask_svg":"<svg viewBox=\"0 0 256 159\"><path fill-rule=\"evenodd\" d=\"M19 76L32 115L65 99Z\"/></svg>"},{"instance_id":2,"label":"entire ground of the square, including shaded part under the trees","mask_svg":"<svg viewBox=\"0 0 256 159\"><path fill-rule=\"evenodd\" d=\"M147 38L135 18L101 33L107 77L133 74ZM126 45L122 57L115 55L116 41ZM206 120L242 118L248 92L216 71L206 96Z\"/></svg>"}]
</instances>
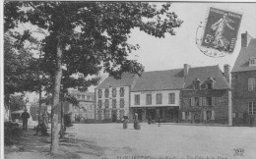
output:
<instances>
[{"instance_id":1,"label":"entire ground of the square, including shaded part under the trees","mask_svg":"<svg viewBox=\"0 0 256 159\"><path fill-rule=\"evenodd\" d=\"M5 147L7 159L255 159L256 128L141 124L76 124L50 156L50 137L24 132L18 145ZM241 148L244 152L235 152ZM242 155L242 156L240 156Z\"/></svg>"}]
</instances>

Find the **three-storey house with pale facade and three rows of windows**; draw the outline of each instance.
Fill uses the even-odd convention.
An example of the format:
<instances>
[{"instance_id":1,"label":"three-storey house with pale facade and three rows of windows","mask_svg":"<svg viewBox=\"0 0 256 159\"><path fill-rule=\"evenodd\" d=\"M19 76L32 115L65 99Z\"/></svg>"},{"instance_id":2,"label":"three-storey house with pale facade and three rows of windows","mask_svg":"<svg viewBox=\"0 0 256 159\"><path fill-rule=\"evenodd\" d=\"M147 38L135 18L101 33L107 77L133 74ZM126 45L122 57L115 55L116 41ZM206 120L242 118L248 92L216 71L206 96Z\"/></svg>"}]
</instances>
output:
<instances>
[{"instance_id":1,"label":"three-storey house with pale facade and three rows of windows","mask_svg":"<svg viewBox=\"0 0 256 159\"><path fill-rule=\"evenodd\" d=\"M130 90L137 75L124 73L121 79L108 77L96 86L96 120L118 122L129 115Z\"/></svg>"}]
</instances>

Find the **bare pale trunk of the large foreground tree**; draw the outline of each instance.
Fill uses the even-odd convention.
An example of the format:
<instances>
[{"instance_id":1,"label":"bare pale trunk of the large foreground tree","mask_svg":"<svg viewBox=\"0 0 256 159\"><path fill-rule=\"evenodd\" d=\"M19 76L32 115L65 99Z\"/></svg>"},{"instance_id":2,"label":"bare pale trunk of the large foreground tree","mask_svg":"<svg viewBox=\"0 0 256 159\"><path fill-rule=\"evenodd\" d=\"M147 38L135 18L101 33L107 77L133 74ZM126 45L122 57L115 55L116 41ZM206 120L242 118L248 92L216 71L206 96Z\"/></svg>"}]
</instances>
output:
<instances>
[{"instance_id":1,"label":"bare pale trunk of the large foreground tree","mask_svg":"<svg viewBox=\"0 0 256 159\"><path fill-rule=\"evenodd\" d=\"M57 47L57 68L55 73L54 83L54 94L53 94L53 105L52 105L52 121L51 121L51 148L52 153L56 153L59 147L58 137L58 107L59 107L59 94L60 94L60 83L62 78L62 50L60 46Z\"/></svg>"}]
</instances>

